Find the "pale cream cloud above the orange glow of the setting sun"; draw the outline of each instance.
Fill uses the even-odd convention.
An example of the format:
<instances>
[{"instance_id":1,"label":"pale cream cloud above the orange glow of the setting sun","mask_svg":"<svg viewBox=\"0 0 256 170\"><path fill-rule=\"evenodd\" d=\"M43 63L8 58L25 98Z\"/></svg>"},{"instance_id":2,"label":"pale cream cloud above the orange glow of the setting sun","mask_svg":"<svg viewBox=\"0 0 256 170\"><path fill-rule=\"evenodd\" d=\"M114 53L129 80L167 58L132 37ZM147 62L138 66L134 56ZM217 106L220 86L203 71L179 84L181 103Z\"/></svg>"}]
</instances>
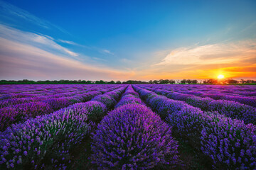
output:
<instances>
[{"instance_id":1,"label":"pale cream cloud above the orange glow of the setting sun","mask_svg":"<svg viewBox=\"0 0 256 170\"><path fill-rule=\"evenodd\" d=\"M172 50L155 66L170 64L225 64L250 59L256 55L256 43L253 40L218 43L195 47L181 47Z\"/></svg>"}]
</instances>

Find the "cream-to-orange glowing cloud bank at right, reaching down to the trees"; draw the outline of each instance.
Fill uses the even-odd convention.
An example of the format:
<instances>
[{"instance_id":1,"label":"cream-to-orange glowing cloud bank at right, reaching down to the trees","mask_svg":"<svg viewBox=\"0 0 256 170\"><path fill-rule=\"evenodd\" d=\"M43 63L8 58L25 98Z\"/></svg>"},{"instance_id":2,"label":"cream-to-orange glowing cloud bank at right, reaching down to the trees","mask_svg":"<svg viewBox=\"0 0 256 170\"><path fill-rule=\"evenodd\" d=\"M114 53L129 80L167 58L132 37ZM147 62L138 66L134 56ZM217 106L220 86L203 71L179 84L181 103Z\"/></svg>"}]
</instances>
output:
<instances>
[{"instance_id":1,"label":"cream-to-orange glowing cloud bank at right, reaching down to the trees","mask_svg":"<svg viewBox=\"0 0 256 170\"><path fill-rule=\"evenodd\" d=\"M155 64L137 70L134 79L213 79L218 74L255 79L256 40L193 45L154 53Z\"/></svg>"}]
</instances>

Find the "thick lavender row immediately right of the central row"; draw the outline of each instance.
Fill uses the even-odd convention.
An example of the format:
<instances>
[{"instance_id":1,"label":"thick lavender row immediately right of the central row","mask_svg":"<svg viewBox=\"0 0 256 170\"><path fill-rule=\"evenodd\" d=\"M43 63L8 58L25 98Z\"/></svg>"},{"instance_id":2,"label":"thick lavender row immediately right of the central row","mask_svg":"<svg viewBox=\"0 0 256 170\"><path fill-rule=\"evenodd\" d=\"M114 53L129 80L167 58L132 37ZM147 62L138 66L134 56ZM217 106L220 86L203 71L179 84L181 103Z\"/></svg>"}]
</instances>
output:
<instances>
[{"instance_id":1,"label":"thick lavender row immediately right of the central row","mask_svg":"<svg viewBox=\"0 0 256 170\"><path fill-rule=\"evenodd\" d=\"M176 136L200 149L215 169L256 169L256 126L218 113L203 113L182 101L134 86Z\"/></svg>"}]
</instances>

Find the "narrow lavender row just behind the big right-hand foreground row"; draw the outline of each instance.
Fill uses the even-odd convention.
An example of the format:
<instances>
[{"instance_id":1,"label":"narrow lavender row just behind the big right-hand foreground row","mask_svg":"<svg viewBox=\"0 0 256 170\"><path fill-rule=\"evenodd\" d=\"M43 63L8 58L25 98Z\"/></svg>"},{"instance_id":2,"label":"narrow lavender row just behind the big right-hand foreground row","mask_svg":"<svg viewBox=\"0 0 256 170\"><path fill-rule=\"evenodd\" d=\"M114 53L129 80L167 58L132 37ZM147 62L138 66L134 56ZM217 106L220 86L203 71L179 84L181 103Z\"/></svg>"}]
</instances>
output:
<instances>
[{"instance_id":1,"label":"narrow lavender row just behind the big right-hand foreground row","mask_svg":"<svg viewBox=\"0 0 256 170\"><path fill-rule=\"evenodd\" d=\"M215 101L212 98L201 98L161 89L152 89L146 86L144 86L144 88L174 100L185 101L191 106L201 108L203 111L218 111L218 113L222 115L226 115L233 119L243 120L245 123L256 123L256 108L253 108L252 106L247 106L235 101Z\"/></svg>"}]
</instances>

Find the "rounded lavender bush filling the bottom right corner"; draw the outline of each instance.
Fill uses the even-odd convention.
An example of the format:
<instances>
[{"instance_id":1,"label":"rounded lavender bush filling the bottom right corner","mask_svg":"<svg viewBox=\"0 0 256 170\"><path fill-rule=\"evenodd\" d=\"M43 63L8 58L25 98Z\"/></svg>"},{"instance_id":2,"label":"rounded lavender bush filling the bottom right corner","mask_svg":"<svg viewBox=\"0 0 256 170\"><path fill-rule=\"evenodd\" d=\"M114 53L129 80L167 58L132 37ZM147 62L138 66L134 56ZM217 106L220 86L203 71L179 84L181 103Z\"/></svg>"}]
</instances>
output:
<instances>
[{"instance_id":1,"label":"rounded lavender bush filling the bottom right corner","mask_svg":"<svg viewBox=\"0 0 256 170\"><path fill-rule=\"evenodd\" d=\"M201 131L201 150L215 169L256 169L256 126L211 115Z\"/></svg>"}]
</instances>

